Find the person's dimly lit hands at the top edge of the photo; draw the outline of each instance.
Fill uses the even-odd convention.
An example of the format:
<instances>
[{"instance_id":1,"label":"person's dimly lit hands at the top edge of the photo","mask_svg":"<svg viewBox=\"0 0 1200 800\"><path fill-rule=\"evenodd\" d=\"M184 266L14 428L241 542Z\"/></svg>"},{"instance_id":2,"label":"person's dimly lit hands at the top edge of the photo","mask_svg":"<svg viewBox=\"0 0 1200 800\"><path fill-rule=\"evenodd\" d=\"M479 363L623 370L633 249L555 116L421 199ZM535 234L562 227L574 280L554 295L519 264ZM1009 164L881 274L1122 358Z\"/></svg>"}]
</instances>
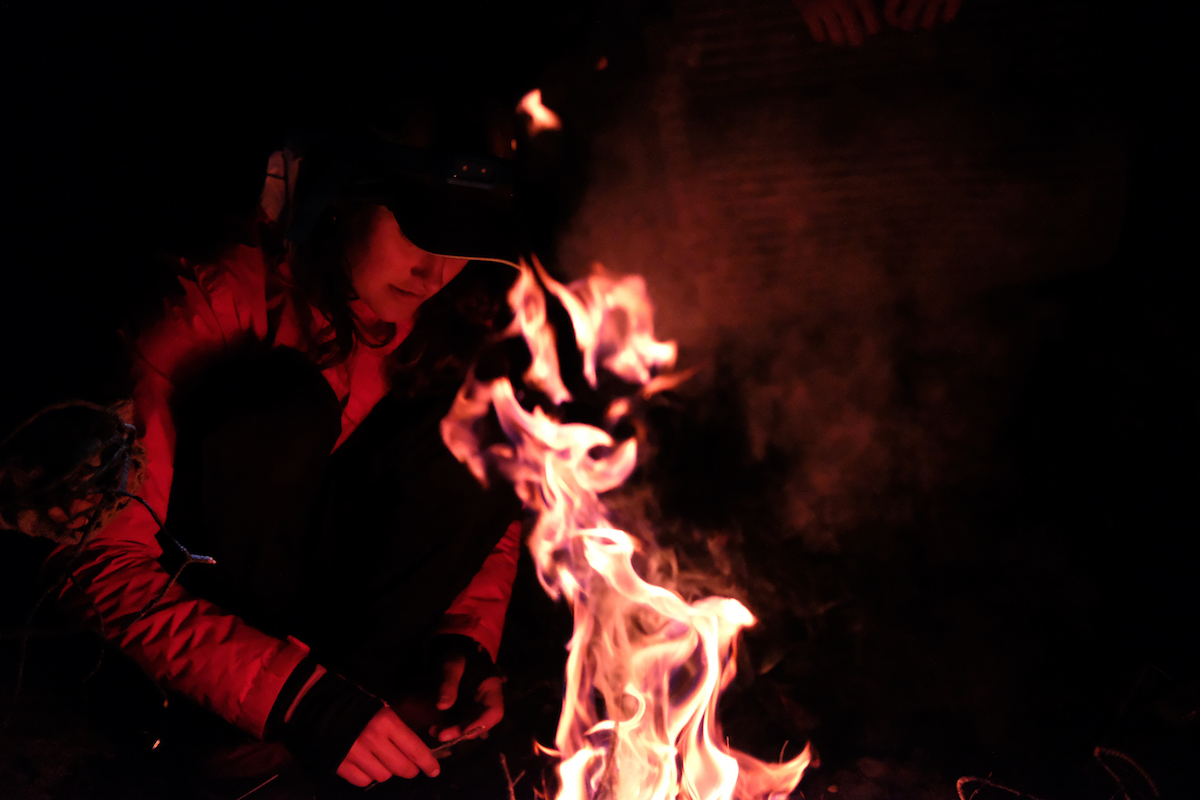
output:
<instances>
[{"instance_id":1,"label":"person's dimly lit hands at the top edge of the photo","mask_svg":"<svg viewBox=\"0 0 1200 800\"><path fill-rule=\"evenodd\" d=\"M866 36L880 32L880 12L872 0L792 0L809 32L817 42L860 46ZM932 30L938 18L954 19L962 0L887 0L883 19L894 28L911 31L918 24Z\"/></svg>"}]
</instances>

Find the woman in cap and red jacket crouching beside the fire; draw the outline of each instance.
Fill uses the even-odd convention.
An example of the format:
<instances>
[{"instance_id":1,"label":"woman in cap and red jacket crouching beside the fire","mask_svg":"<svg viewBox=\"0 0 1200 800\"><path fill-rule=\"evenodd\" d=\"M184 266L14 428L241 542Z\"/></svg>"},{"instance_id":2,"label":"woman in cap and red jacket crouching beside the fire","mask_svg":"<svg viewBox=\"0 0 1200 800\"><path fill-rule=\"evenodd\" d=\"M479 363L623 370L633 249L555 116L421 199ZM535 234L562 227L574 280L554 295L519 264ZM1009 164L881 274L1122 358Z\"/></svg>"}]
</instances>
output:
<instances>
[{"instance_id":1,"label":"woman in cap and red jacket crouching beside the fire","mask_svg":"<svg viewBox=\"0 0 1200 800\"><path fill-rule=\"evenodd\" d=\"M259 241L181 264L182 294L133 341L130 492L48 564L61 603L160 686L312 772L432 777L424 734L504 714L520 504L437 423L503 324L511 243L479 236L509 192L486 160L439 175L378 137L304 148L270 160ZM412 700L431 658L436 709Z\"/></svg>"}]
</instances>

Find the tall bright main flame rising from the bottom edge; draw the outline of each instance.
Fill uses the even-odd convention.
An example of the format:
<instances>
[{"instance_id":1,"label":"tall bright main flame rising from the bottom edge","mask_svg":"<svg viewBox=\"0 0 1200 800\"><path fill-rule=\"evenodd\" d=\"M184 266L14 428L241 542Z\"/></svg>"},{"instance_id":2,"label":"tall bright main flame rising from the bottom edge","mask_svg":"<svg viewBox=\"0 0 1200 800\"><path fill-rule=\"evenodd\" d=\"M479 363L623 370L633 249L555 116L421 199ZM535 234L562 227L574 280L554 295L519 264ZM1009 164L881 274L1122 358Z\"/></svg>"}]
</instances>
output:
<instances>
[{"instance_id":1,"label":"tall bright main flame rising from the bottom edge","mask_svg":"<svg viewBox=\"0 0 1200 800\"><path fill-rule=\"evenodd\" d=\"M646 283L599 266L570 287L540 264L521 264L509 293L533 356L524 375L554 404L570 399L558 372L550 290L571 317L588 383L604 367L650 389L674 366L676 345L654 338ZM607 417L629 410L618 399ZM484 446L481 428L496 411L506 443ZM526 410L508 378L467 379L442 421L450 451L482 482L488 468L512 481L538 513L529 549L542 588L565 599L575 627L568 644L566 691L554 741L558 800L757 800L785 798L810 762L766 764L725 744L716 702L736 672L737 638L754 615L737 600L689 603L643 581L634 569L637 541L610 523L600 494L620 486L637 462L636 440L617 443L600 428Z\"/></svg>"}]
</instances>

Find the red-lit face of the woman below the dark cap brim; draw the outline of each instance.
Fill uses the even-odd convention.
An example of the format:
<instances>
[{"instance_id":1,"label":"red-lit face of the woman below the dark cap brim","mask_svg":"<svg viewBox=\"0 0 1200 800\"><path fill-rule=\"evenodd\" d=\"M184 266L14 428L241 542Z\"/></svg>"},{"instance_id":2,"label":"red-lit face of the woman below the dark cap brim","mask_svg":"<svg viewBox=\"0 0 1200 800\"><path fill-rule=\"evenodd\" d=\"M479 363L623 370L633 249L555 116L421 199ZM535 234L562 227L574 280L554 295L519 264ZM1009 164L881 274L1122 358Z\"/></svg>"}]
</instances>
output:
<instances>
[{"instance_id":1,"label":"red-lit face of the woman below the dark cap brim","mask_svg":"<svg viewBox=\"0 0 1200 800\"><path fill-rule=\"evenodd\" d=\"M427 253L404 237L385 206L371 206L367 235L350 253L350 283L359 297L386 323L403 325L418 306L450 283L464 258Z\"/></svg>"}]
</instances>

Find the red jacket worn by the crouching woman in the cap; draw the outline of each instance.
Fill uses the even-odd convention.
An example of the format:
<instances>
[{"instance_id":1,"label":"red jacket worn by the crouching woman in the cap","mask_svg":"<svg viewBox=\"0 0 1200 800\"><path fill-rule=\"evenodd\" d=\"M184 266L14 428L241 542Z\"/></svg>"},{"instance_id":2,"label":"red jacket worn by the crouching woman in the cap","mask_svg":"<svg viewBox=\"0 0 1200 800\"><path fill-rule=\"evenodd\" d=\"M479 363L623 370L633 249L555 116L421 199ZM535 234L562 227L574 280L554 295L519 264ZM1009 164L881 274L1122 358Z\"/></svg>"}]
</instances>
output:
<instances>
[{"instance_id":1,"label":"red jacket worn by the crouching woman in the cap","mask_svg":"<svg viewBox=\"0 0 1200 800\"><path fill-rule=\"evenodd\" d=\"M269 308L277 319L274 343L302 348L295 311L287 293L270 288L260 251L239 247L217 264L197 267L194 281L180 282L184 296L169 300L162 320L133 344L134 413L145 452L139 494L160 518L167 515L174 470L168 403L180 368L247 337L265 339ZM346 362L324 371L343 401L342 434L335 447L385 395L385 349L356 345ZM442 632L475 639L493 660L516 575L520 529L516 522L509 527L442 626ZM178 584L168 588L170 576L157 561L162 554L157 531L145 509L126 505L71 561L62 601L161 686L262 736L275 698L308 648L292 637L266 636ZM66 548L60 548L50 559L61 565L66 557Z\"/></svg>"}]
</instances>

